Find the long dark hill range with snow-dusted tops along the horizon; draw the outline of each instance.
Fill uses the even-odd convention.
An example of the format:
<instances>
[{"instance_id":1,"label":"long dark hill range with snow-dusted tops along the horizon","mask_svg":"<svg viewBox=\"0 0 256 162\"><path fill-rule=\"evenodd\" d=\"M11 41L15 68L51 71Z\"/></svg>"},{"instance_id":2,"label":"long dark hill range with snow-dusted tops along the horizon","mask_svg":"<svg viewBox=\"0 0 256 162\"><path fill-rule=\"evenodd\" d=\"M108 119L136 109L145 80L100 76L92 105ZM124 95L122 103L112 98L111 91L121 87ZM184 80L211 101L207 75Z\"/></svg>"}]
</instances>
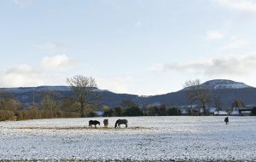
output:
<instances>
[{"instance_id":1,"label":"long dark hill range with snow-dusted tops along the horizon","mask_svg":"<svg viewBox=\"0 0 256 162\"><path fill-rule=\"evenodd\" d=\"M212 96L220 98L223 107L230 107L232 102L239 99L246 105L256 105L256 89L247 84L234 82L231 80L216 79L210 80L201 84L208 90L211 90ZM72 89L69 86L39 86L39 87L20 87L20 88L4 88L2 91L9 92L14 95L15 99L22 104L28 105L32 101L39 103L42 95L47 91L54 91L59 94L61 98L72 95ZM141 106L148 104L168 104L172 106L186 106L189 105L187 100L187 90L179 90L177 92L167 93L164 95L139 96L131 94L117 94L109 90L96 89L99 95L98 103L100 105L108 105L108 107L117 107L124 99L135 101ZM213 101L212 101L212 105Z\"/></svg>"}]
</instances>

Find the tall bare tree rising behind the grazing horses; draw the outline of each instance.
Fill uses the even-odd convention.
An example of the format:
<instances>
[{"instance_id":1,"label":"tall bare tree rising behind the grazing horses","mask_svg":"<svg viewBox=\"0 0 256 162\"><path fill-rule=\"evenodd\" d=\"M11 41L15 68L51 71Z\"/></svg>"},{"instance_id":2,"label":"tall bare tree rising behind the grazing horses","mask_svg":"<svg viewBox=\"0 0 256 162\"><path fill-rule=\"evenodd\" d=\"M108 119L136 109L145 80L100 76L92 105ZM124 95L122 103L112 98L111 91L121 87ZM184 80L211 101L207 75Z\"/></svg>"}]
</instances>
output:
<instances>
[{"instance_id":1,"label":"tall bare tree rising behind the grazing horses","mask_svg":"<svg viewBox=\"0 0 256 162\"><path fill-rule=\"evenodd\" d=\"M96 88L96 80L92 77L84 77L76 75L72 78L67 78L67 83L72 86L76 100L80 104L80 114L84 117L84 110L89 106L89 97Z\"/></svg>"}]
</instances>

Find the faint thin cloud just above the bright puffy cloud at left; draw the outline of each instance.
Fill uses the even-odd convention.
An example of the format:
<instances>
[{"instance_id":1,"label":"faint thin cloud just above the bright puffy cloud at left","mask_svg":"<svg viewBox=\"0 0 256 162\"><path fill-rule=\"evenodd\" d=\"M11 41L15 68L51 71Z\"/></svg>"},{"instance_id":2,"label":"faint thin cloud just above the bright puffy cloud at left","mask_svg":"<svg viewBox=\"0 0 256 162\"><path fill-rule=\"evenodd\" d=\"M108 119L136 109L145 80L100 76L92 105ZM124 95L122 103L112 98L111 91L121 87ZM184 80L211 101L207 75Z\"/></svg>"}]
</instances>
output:
<instances>
[{"instance_id":1,"label":"faint thin cloud just above the bright puffy cloud at left","mask_svg":"<svg viewBox=\"0 0 256 162\"><path fill-rule=\"evenodd\" d=\"M48 50L48 51L53 51L53 52L65 52L67 51L68 47L67 44L65 43L43 43L38 45L39 49L42 50Z\"/></svg>"}]
</instances>

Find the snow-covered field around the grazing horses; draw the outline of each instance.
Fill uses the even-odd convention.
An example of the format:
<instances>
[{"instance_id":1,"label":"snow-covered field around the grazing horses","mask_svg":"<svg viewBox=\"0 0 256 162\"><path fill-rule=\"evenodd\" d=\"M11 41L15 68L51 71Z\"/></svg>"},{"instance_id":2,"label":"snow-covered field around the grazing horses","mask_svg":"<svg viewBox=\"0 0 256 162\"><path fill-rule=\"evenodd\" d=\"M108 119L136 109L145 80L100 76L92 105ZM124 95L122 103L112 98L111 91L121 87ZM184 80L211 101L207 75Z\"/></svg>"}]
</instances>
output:
<instances>
[{"instance_id":1,"label":"snow-covered field around the grazing horses","mask_svg":"<svg viewBox=\"0 0 256 162\"><path fill-rule=\"evenodd\" d=\"M88 128L90 119L0 122L0 160L256 161L255 117L230 117L228 125L224 117L121 118L128 129L108 119L108 129Z\"/></svg>"}]
</instances>

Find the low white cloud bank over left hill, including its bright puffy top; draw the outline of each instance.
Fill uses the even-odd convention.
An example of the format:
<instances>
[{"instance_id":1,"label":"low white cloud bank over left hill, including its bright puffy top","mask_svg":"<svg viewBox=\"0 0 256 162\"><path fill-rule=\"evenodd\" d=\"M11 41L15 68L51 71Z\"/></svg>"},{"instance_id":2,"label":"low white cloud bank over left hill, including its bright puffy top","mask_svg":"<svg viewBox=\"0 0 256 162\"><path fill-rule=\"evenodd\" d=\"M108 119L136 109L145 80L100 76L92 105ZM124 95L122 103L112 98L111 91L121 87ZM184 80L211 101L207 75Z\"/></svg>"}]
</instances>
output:
<instances>
[{"instance_id":1,"label":"low white cloud bank over left hill, including its bright puffy top","mask_svg":"<svg viewBox=\"0 0 256 162\"><path fill-rule=\"evenodd\" d=\"M0 72L0 87L65 84L66 77L60 71L67 70L73 65L72 62L67 55L54 55L45 56L41 61L41 66L21 64L9 67Z\"/></svg>"}]
</instances>

